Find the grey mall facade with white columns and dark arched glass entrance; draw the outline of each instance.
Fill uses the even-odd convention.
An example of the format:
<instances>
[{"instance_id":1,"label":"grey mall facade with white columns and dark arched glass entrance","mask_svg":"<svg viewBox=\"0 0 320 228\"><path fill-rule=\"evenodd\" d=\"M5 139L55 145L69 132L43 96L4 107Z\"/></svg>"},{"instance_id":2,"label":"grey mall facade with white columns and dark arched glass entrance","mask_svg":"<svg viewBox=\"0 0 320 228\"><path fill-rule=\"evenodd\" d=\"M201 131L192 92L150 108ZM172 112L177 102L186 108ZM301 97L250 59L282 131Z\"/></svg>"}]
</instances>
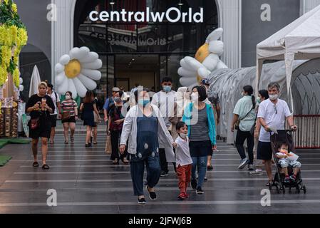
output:
<instances>
[{"instance_id":1,"label":"grey mall facade with white columns and dark arched glass entrance","mask_svg":"<svg viewBox=\"0 0 320 228\"><path fill-rule=\"evenodd\" d=\"M29 43L21 53L24 96L37 65L54 83L54 66L73 47L87 46L103 61L97 93L140 83L160 90L164 76L179 85L180 59L194 56L207 35L224 28L222 61L254 66L257 43L320 0L16 0Z\"/></svg>"}]
</instances>

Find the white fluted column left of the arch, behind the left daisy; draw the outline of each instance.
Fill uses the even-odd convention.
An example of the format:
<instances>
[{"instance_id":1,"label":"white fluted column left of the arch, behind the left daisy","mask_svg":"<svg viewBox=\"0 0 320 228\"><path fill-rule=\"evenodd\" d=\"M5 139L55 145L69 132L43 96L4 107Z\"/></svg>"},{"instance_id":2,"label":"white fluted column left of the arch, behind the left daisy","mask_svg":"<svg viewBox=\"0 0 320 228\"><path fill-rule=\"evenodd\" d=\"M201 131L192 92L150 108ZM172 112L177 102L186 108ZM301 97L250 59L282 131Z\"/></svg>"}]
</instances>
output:
<instances>
[{"instance_id":1,"label":"white fluted column left of the arch, behind the left daisy","mask_svg":"<svg viewBox=\"0 0 320 228\"><path fill-rule=\"evenodd\" d=\"M52 83L54 84L54 66L58 63L61 56L69 53L73 48L71 34L73 34L73 9L72 6L76 0L53 0L57 7L57 20L52 22Z\"/></svg>"}]
</instances>

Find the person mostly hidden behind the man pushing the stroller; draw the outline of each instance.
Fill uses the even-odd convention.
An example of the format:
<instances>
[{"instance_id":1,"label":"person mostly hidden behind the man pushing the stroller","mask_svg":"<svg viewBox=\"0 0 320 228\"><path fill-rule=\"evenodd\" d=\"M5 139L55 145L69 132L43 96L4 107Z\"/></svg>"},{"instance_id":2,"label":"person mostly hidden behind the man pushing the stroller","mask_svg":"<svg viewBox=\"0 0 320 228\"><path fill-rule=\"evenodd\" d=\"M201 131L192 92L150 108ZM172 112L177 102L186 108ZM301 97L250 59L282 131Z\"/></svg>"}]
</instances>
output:
<instances>
[{"instance_id":1,"label":"person mostly hidden behind the man pushing the stroller","mask_svg":"<svg viewBox=\"0 0 320 228\"><path fill-rule=\"evenodd\" d=\"M260 133L260 121L257 120L259 105L262 103L262 101L269 99L269 94L267 90L259 90L259 95L257 98L257 108L256 108L256 126L254 128L254 167L255 170L249 172L251 175L262 175L262 160L257 159L257 146L258 146L258 140L259 140L259 133Z\"/></svg>"}]
</instances>

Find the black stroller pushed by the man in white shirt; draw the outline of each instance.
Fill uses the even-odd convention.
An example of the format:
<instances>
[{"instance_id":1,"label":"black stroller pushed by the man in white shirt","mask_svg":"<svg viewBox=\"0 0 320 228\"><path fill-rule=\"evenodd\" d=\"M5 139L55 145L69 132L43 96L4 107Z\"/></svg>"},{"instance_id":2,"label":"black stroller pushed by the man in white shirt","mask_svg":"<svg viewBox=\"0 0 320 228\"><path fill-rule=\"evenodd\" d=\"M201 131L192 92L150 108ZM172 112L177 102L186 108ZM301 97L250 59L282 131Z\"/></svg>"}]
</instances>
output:
<instances>
[{"instance_id":1,"label":"black stroller pushed by the man in white shirt","mask_svg":"<svg viewBox=\"0 0 320 228\"><path fill-rule=\"evenodd\" d=\"M296 192L300 194L300 191L303 190L304 193L306 193L306 186L303 184L301 179L301 170L299 170L298 174L296 175L296 181L294 182L284 182L284 173L280 172L281 166L279 165L279 159L276 156L276 153L278 152L279 144L282 142L286 142L289 146L289 151L295 152L294 148L294 142L292 140L292 131L291 130L277 130L277 134L274 133L271 135L271 147L272 147L272 154L274 157L274 162L277 167L277 172L274 175L274 181L272 185L269 185L269 190L272 190L272 186L276 187L277 192L280 193L281 191L283 193L286 192L285 188L289 188L289 191L291 191L291 188L295 188ZM293 173L293 167L289 165L288 167L288 173L291 175Z\"/></svg>"}]
</instances>

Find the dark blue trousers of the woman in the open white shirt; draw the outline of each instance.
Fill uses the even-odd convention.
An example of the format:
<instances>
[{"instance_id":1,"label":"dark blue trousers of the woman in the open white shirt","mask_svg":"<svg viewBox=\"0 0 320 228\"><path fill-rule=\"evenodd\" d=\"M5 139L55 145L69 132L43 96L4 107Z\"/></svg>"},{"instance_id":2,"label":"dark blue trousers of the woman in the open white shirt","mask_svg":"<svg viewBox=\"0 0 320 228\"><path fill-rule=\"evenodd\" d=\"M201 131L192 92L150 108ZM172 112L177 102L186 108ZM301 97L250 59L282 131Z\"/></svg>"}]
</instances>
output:
<instances>
[{"instance_id":1,"label":"dark blue trousers of the woman in the open white shirt","mask_svg":"<svg viewBox=\"0 0 320 228\"><path fill-rule=\"evenodd\" d=\"M132 155L135 156L135 155ZM143 195L143 173L147 167L147 183L148 187L152 188L158 184L160 179L160 160L159 153L149 155L142 160L130 160L130 172L133 180L133 192L135 195Z\"/></svg>"}]
</instances>

